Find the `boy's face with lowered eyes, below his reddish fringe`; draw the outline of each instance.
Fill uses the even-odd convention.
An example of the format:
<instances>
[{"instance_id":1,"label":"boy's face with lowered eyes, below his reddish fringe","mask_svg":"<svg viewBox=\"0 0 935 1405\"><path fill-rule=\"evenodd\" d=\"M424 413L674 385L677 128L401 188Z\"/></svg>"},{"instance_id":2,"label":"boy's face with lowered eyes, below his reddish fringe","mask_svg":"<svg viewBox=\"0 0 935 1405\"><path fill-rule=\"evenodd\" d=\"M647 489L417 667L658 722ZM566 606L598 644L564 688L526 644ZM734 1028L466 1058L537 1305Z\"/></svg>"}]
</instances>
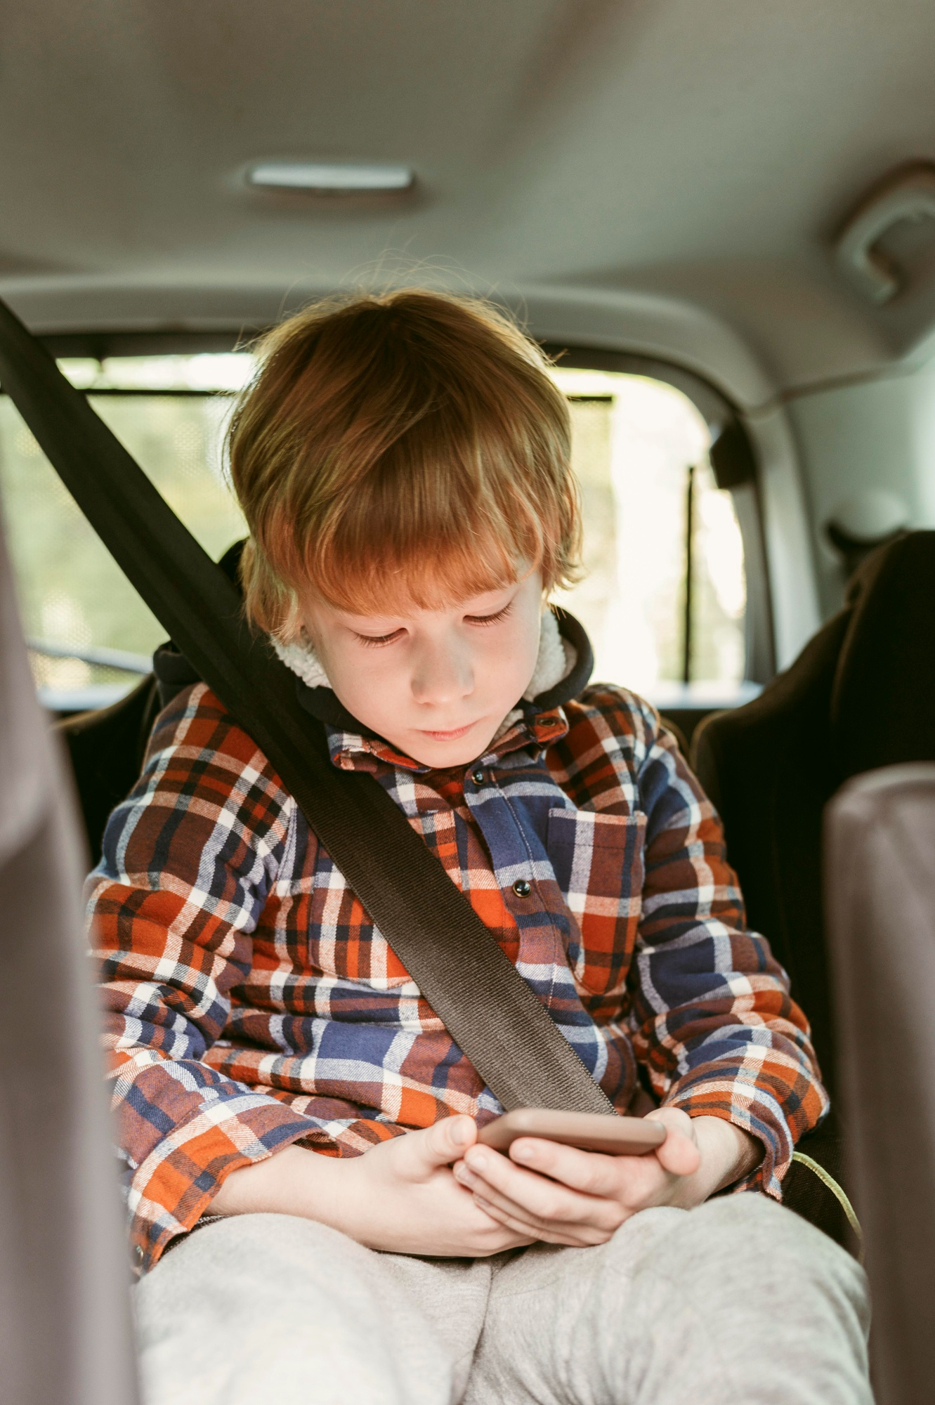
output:
<instances>
[{"instance_id":1,"label":"boy's face with lowered eyes, below his reddish fringe","mask_svg":"<svg viewBox=\"0 0 935 1405\"><path fill-rule=\"evenodd\" d=\"M355 718L424 766L486 752L535 672L542 576L441 610L352 615L299 601L331 687Z\"/></svg>"}]
</instances>

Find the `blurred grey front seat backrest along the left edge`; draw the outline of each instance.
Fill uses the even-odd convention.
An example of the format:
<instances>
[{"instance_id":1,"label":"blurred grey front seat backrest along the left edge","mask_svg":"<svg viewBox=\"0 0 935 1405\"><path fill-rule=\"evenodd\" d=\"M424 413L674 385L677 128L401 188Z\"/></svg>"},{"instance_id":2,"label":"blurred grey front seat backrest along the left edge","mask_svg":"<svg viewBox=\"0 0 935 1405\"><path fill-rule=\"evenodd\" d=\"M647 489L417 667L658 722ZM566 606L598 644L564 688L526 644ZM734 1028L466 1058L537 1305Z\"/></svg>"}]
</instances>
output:
<instances>
[{"instance_id":1,"label":"blurred grey front seat backrest along the left edge","mask_svg":"<svg viewBox=\"0 0 935 1405\"><path fill-rule=\"evenodd\" d=\"M0 1399L133 1405L83 854L0 534Z\"/></svg>"}]
</instances>

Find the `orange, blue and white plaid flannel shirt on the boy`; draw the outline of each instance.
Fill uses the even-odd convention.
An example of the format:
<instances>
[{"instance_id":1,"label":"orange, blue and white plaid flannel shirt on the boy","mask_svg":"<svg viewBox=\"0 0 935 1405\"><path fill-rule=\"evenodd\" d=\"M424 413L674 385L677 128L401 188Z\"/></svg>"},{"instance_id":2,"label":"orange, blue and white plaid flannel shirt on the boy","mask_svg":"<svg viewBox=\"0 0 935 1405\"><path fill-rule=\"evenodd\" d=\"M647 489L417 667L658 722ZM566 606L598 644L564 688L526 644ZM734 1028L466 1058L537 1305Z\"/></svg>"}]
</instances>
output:
<instances>
[{"instance_id":1,"label":"orange, blue and white plaid flannel shirt on the boy","mask_svg":"<svg viewBox=\"0 0 935 1405\"><path fill-rule=\"evenodd\" d=\"M327 732L333 763L389 791L615 1106L640 1065L658 1100L760 1138L740 1189L779 1197L827 1096L786 975L745 930L717 815L653 708L592 686L526 707L445 771ZM88 908L139 1269L226 1175L288 1144L354 1156L501 1111L204 684L160 715Z\"/></svg>"}]
</instances>

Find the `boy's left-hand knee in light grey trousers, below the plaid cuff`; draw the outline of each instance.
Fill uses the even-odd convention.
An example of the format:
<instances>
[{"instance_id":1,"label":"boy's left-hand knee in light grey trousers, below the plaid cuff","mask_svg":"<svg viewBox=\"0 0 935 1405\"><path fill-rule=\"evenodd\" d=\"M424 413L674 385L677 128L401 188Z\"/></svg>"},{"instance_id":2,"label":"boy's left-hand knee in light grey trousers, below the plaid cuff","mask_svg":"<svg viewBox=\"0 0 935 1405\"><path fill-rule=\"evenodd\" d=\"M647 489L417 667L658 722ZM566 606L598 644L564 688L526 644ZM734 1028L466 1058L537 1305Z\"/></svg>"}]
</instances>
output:
<instances>
[{"instance_id":1,"label":"boy's left-hand knee in light grey trousers, below the plaid cuff","mask_svg":"<svg viewBox=\"0 0 935 1405\"><path fill-rule=\"evenodd\" d=\"M136 1286L150 1405L446 1399L451 1367L376 1255L296 1215L232 1215L195 1231ZM361 1356L359 1343L368 1349ZM416 1364L413 1364L416 1363ZM434 1392L434 1394L432 1394Z\"/></svg>"}]
</instances>

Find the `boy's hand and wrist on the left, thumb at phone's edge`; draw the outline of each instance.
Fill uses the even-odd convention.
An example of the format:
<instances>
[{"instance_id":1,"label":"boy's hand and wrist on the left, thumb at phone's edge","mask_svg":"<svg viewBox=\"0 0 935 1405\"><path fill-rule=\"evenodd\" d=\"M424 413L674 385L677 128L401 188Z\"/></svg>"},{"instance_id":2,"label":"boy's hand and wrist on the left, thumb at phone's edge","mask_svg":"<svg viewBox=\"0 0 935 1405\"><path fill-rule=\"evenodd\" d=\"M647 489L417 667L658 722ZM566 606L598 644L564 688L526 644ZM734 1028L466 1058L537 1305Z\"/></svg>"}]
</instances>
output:
<instances>
[{"instance_id":1,"label":"boy's hand and wrist on the left, thumb at phone's edge","mask_svg":"<svg viewBox=\"0 0 935 1405\"><path fill-rule=\"evenodd\" d=\"M451 1163L476 1139L473 1118L445 1117L434 1127L379 1142L362 1156L321 1156L286 1146L232 1172L211 1210L305 1215L393 1253L475 1259L531 1243L535 1234L490 1215L455 1180Z\"/></svg>"}]
</instances>

